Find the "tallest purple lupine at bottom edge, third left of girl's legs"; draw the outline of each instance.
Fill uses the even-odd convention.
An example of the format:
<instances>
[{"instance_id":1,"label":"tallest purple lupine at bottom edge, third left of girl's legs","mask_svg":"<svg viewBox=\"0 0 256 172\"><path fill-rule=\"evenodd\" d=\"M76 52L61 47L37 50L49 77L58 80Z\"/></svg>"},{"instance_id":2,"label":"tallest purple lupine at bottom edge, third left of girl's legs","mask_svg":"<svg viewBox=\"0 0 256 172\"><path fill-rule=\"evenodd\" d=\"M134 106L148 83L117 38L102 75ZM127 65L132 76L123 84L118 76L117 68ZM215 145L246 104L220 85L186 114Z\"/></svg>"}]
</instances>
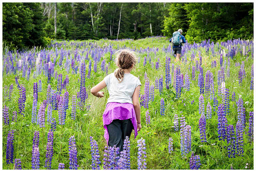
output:
<instances>
[{"instance_id":1,"label":"tallest purple lupine at bottom edge, third left of girl's legs","mask_svg":"<svg viewBox=\"0 0 256 172\"><path fill-rule=\"evenodd\" d=\"M46 160L45 168L50 170L52 168L52 157L53 157L53 131L50 129L47 134L48 142L46 145Z\"/></svg>"}]
</instances>

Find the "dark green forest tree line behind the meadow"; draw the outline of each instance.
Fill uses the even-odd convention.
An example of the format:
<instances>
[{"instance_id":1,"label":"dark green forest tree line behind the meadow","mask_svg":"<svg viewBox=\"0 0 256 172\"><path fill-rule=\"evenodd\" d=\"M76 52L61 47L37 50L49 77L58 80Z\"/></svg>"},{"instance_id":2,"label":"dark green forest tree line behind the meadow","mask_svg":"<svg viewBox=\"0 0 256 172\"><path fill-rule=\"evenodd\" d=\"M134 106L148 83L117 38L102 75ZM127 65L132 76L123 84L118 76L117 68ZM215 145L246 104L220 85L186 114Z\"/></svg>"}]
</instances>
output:
<instances>
[{"instance_id":1,"label":"dark green forest tree line behind the meadow","mask_svg":"<svg viewBox=\"0 0 256 172\"><path fill-rule=\"evenodd\" d=\"M171 37L189 42L253 37L253 3L3 3L3 44L46 46L50 39Z\"/></svg>"}]
</instances>

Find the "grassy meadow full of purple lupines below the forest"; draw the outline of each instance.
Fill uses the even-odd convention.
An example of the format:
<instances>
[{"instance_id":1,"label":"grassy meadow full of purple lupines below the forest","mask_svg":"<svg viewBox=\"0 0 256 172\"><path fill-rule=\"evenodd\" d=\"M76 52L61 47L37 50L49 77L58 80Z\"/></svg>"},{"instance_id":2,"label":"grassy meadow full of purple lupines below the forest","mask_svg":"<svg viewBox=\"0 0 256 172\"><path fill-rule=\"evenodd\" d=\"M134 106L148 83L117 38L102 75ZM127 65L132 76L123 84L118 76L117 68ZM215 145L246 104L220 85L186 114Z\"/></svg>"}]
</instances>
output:
<instances>
[{"instance_id":1,"label":"grassy meadow full of purple lupines below the forest","mask_svg":"<svg viewBox=\"0 0 256 172\"><path fill-rule=\"evenodd\" d=\"M142 83L142 129L129 139L130 169L138 169L141 138L146 169L254 169L253 41L186 43L177 63L167 37L4 48L3 169L75 169L75 161L92 169L99 156L105 168L109 95L104 88L99 99L90 89L114 72L115 52L124 48L138 53L131 73Z\"/></svg>"}]
</instances>

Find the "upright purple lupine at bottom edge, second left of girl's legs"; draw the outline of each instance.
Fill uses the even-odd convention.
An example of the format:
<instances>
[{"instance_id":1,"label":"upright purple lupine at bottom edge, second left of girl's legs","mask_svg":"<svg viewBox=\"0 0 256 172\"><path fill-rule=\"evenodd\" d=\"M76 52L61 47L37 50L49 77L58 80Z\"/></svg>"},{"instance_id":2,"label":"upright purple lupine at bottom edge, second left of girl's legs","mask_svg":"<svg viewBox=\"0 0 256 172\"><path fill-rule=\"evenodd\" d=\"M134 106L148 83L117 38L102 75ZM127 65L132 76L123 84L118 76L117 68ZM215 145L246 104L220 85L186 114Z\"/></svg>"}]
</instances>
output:
<instances>
[{"instance_id":1,"label":"upright purple lupine at bottom edge, second left of girl's legs","mask_svg":"<svg viewBox=\"0 0 256 172\"><path fill-rule=\"evenodd\" d=\"M77 150L75 136L73 135L69 138L69 169L77 170L77 167Z\"/></svg>"}]
</instances>

